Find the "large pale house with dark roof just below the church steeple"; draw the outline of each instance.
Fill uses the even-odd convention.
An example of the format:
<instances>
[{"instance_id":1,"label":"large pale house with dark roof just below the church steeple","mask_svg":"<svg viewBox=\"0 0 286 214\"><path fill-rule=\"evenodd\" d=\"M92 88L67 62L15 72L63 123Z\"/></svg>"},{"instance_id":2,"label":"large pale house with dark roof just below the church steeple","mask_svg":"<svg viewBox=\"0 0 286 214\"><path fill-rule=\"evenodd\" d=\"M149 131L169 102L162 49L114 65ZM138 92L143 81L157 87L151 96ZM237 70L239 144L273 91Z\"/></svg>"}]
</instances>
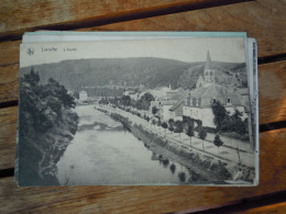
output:
<instances>
[{"instance_id":1,"label":"large pale house with dark roof just below the church steeple","mask_svg":"<svg viewBox=\"0 0 286 214\"><path fill-rule=\"evenodd\" d=\"M248 117L240 95L234 93L232 89L217 83L193 90L185 99L183 116L189 117L195 122L200 121L202 126L216 127L211 105L218 101L230 114L238 110L243 114L242 120Z\"/></svg>"}]
</instances>

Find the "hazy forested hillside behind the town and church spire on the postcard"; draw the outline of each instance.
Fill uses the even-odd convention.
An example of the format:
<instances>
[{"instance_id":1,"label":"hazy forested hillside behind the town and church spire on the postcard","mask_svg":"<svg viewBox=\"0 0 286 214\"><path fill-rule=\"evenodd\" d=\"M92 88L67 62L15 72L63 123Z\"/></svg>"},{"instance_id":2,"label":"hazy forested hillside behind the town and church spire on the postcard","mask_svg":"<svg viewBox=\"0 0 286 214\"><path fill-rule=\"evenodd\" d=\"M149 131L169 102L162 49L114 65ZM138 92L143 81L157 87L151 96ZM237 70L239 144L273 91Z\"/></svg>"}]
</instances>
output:
<instances>
[{"instance_id":1,"label":"hazy forested hillside behind the town and church spire on the postcard","mask_svg":"<svg viewBox=\"0 0 286 214\"><path fill-rule=\"evenodd\" d=\"M245 72L245 64L212 61L227 75L232 71ZM138 58L98 58L64 60L55 64L36 65L41 82L51 77L63 83L68 90L80 91L82 87L144 85L146 88L178 87L191 88L197 81L198 72L205 61L184 63L174 59L138 57ZM197 69L199 68L199 69ZM21 75L28 74L31 67L21 68ZM185 77L188 77L185 79ZM246 76L242 77L244 80ZM187 85L184 83L187 80Z\"/></svg>"}]
</instances>

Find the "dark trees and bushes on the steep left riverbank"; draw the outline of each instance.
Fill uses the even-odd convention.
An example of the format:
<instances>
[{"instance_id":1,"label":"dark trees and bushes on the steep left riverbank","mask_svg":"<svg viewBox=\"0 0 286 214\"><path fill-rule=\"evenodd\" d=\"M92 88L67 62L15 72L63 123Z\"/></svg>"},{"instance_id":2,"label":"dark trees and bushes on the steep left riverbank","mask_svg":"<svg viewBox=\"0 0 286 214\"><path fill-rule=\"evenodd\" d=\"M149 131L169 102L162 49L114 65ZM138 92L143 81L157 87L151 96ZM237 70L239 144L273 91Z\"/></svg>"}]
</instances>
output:
<instances>
[{"instance_id":1,"label":"dark trees and bushes on the steep left riverbank","mask_svg":"<svg viewBox=\"0 0 286 214\"><path fill-rule=\"evenodd\" d=\"M77 131L78 116L72 111L75 100L64 86L52 78L45 85L40 81L33 68L20 79L19 157L25 159L21 168L29 168L20 176L33 178L25 182L41 184L48 178L56 183L51 174Z\"/></svg>"}]
</instances>

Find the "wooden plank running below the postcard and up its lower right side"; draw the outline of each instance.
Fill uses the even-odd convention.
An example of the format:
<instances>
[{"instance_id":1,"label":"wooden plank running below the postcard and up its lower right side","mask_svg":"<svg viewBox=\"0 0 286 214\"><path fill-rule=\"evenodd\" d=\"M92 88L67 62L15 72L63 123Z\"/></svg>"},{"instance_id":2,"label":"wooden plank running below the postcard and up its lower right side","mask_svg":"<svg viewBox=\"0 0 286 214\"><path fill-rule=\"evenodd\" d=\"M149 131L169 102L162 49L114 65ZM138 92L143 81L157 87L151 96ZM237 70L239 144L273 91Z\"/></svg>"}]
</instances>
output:
<instances>
[{"instance_id":1,"label":"wooden plank running below the postcard and up its lower right side","mask_svg":"<svg viewBox=\"0 0 286 214\"><path fill-rule=\"evenodd\" d=\"M253 188L62 187L16 188L0 179L0 212L167 213L215 206L286 190L286 128L261 134L261 181ZM13 201L13 203L10 203Z\"/></svg>"}]
</instances>

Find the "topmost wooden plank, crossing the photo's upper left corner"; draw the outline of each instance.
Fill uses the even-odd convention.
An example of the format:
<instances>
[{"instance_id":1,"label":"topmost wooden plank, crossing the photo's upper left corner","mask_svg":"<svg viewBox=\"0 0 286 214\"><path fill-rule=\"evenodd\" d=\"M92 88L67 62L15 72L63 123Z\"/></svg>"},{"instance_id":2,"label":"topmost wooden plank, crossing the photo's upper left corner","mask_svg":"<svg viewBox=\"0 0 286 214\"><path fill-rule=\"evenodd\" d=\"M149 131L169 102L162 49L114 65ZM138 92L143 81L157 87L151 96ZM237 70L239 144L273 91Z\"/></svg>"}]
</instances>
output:
<instances>
[{"instance_id":1,"label":"topmost wooden plank, crossing the photo's upper left corner","mask_svg":"<svg viewBox=\"0 0 286 214\"><path fill-rule=\"evenodd\" d=\"M245 0L65 0L2 1L0 38L21 35L37 29L75 29L131 20L139 16L196 10ZM91 24L91 25L90 25Z\"/></svg>"}]
</instances>

